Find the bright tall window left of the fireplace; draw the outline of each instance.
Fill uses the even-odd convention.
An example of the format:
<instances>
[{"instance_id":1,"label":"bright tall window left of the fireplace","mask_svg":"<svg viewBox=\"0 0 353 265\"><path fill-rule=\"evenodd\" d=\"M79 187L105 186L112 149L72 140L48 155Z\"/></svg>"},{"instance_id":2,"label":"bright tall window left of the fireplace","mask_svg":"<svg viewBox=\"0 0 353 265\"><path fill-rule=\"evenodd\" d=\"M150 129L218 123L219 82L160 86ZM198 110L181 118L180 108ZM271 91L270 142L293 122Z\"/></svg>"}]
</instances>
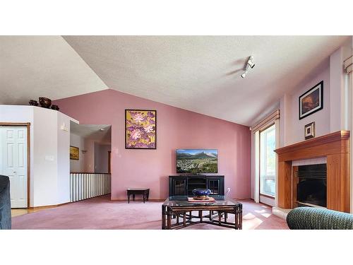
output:
<instances>
[{"instance_id":1,"label":"bright tall window left of the fireplace","mask_svg":"<svg viewBox=\"0 0 353 265\"><path fill-rule=\"evenodd\" d=\"M260 131L260 194L275 196L275 124Z\"/></svg>"}]
</instances>

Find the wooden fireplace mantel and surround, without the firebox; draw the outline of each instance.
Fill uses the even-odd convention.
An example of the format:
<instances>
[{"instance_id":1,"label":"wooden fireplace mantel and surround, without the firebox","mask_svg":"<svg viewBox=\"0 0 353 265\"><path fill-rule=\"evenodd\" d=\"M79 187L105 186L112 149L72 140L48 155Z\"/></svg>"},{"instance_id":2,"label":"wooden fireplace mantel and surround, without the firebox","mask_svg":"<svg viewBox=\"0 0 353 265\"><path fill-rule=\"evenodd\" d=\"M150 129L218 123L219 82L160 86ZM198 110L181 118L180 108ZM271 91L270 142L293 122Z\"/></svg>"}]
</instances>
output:
<instances>
[{"instance_id":1,"label":"wooden fireplace mantel and surround, without the firebox","mask_svg":"<svg viewBox=\"0 0 353 265\"><path fill-rule=\"evenodd\" d=\"M292 208L292 160L327 158L327 208L349 213L349 131L336 131L275 150L278 206Z\"/></svg>"}]
</instances>

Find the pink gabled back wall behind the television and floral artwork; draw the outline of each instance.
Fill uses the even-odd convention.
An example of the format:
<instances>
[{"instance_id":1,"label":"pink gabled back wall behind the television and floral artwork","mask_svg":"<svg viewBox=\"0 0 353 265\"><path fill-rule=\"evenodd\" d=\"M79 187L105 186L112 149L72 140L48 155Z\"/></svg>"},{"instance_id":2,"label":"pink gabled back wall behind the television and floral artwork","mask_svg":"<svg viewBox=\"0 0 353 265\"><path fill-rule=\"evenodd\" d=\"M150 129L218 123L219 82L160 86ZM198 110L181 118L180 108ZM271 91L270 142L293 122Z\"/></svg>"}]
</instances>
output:
<instances>
[{"instance_id":1,"label":"pink gabled back wall behind the television and floral artwork","mask_svg":"<svg viewBox=\"0 0 353 265\"><path fill-rule=\"evenodd\" d=\"M177 148L217 148L225 188L232 189L234 198L250 197L247 126L110 89L54 104L80 124L112 124L112 199L126 199L128 187L149 187L150 199L167 198L168 176L176 174ZM125 109L157 110L157 150L125 149Z\"/></svg>"}]
</instances>

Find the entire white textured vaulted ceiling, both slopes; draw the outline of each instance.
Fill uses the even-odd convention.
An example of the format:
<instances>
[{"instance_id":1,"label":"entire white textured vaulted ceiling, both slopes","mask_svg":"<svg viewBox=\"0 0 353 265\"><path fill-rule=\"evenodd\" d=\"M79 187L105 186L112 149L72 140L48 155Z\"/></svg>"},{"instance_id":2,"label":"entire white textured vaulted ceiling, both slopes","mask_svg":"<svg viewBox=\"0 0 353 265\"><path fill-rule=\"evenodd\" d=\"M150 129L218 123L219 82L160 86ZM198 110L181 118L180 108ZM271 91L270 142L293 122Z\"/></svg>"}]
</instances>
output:
<instances>
[{"instance_id":1,"label":"entire white textured vaulted ceiling, both slopes","mask_svg":"<svg viewBox=\"0 0 353 265\"><path fill-rule=\"evenodd\" d=\"M0 37L0 103L27 104L39 96L58 99L112 88L250 125L347 39L4 36ZM250 55L256 66L242 79Z\"/></svg>"}]
</instances>

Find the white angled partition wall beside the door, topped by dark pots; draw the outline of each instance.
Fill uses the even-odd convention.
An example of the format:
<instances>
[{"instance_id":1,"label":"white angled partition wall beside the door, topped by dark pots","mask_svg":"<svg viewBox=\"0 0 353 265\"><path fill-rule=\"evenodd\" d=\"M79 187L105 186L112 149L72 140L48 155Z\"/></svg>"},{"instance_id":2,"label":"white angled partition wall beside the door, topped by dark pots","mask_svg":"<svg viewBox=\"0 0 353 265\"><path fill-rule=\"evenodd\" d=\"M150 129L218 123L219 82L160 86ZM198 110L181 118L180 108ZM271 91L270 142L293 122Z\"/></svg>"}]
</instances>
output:
<instances>
[{"instance_id":1,"label":"white angled partition wall beside the door, topped by dark pots","mask_svg":"<svg viewBox=\"0 0 353 265\"><path fill-rule=\"evenodd\" d=\"M70 201L70 120L77 122L66 114L42 107L0 105L0 122L30 122L31 207ZM64 123L68 131L61 130Z\"/></svg>"}]
</instances>

